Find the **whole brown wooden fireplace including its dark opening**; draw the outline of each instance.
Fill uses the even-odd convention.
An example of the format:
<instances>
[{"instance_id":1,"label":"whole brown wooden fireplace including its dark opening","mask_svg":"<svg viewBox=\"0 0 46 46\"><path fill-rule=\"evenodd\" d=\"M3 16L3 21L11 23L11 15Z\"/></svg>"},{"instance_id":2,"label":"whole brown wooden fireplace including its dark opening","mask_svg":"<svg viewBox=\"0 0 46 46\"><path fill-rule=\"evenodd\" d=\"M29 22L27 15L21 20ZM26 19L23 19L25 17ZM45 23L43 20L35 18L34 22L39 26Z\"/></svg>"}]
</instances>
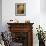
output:
<instances>
[{"instance_id":1,"label":"whole brown wooden fireplace including its dark opening","mask_svg":"<svg viewBox=\"0 0 46 46\"><path fill-rule=\"evenodd\" d=\"M33 23L7 23L13 41L23 43L22 46L33 46Z\"/></svg>"}]
</instances>

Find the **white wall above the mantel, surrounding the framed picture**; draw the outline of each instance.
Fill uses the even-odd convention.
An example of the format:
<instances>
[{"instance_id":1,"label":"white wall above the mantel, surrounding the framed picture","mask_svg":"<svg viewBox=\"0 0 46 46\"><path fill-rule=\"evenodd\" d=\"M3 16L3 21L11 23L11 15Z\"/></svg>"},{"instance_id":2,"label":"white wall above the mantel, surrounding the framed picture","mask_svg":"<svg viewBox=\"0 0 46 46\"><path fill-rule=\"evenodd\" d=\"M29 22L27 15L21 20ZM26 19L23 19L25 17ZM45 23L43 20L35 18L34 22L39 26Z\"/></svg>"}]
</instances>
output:
<instances>
[{"instance_id":1,"label":"white wall above the mantel, surrounding the framed picture","mask_svg":"<svg viewBox=\"0 0 46 46\"><path fill-rule=\"evenodd\" d=\"M26 3L26 16L15 16L15 3ZM10 19L17 19L20 22L29 19L33 23L39 23L40 14L40 0L2 0L2 25L5 26ZM23 18L23 19L22 19ZM37 21L38 20L38 21ZM6 28L4 27L6 30ZM3 31L5 31L3 30Z\"/></svg>"}]
</instances>

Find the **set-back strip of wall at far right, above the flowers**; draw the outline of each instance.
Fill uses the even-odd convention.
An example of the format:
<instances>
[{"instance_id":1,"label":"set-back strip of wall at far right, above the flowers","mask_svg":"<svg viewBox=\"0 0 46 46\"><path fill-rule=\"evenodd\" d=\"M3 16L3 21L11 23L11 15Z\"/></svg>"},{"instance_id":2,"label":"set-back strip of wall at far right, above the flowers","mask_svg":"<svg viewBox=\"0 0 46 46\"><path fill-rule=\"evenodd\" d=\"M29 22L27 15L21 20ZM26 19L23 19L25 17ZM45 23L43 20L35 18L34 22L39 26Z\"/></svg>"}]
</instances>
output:
<instances>
[{"instance_id":1,"label":"set-back strip of wall at far right, above the flowers","mask_svg":"<svg viewBox=\"0 0 46 46\"><path fill-rule=\"evenodd\" d=\"M46 31L46 0L40 0L40 25Z\"/></svg>"}]
</instances>

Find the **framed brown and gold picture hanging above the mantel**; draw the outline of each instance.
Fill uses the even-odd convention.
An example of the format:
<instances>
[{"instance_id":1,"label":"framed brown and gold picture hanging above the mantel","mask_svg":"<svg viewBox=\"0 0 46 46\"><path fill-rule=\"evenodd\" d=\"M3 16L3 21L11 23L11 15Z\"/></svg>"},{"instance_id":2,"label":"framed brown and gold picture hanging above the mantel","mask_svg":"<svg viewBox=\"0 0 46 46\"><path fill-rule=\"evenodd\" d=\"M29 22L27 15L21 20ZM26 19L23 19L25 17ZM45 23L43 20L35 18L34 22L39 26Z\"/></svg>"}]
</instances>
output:
<instances>
[{"instance_id":1,"label":"framed brown and gold picture hanging above the mantel","mask_svg":"<svg viewBox=\"0 0 46 46\"><path fill-rule=\"evenodd\" d=\"M16 16L26 15L26 3L16 3L15 4L15 15Z\"/></svg>"}]
</instances>

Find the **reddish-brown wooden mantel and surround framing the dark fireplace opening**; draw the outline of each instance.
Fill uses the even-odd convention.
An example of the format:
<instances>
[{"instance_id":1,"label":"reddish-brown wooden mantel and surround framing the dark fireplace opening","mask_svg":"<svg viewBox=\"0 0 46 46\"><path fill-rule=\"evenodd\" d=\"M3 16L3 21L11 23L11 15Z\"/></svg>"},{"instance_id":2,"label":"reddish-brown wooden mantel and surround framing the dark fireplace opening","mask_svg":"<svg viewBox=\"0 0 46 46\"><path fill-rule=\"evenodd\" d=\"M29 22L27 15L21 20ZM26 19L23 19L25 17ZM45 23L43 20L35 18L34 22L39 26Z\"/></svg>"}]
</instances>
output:
<instances>
[{"instance_id":1,"label":"reddish-brown wooden mantel and surround framing the dark fireplace opening","mask_svg":"<svg viewBox=\"0 0 46 46\"><path fill-rule=\"evenodd\" d=\"M27 32L27 44L25 46L33 46L33 23L7 23L9 25L9 31L12 33L16 32Z\"/></svg>"}]
</instances>

